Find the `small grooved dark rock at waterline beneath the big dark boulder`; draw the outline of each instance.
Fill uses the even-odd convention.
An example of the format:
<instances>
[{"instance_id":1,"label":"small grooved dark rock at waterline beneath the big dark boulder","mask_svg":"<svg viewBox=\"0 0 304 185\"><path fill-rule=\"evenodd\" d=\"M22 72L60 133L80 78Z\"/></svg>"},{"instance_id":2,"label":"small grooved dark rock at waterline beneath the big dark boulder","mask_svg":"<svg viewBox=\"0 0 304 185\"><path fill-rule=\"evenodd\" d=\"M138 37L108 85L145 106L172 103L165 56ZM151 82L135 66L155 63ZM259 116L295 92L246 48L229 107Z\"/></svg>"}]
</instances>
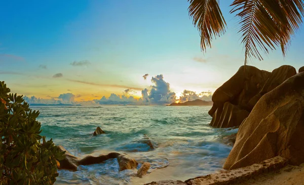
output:
<instances>
[{"instance_id":1,"label":"small grooved dark rock at waterline beneath the big dark boulder","mask_svg":"<svg viewBox=\"0 0 304 185\"><path fill-rule=\"evenodd\" d=\"M221 114L219 114L221 112ZM218 108L212 117L210 126L216 128L238 127L247 118L249 112L237 105L225 102L222 111Z\"/></svg>"}]
</instances>

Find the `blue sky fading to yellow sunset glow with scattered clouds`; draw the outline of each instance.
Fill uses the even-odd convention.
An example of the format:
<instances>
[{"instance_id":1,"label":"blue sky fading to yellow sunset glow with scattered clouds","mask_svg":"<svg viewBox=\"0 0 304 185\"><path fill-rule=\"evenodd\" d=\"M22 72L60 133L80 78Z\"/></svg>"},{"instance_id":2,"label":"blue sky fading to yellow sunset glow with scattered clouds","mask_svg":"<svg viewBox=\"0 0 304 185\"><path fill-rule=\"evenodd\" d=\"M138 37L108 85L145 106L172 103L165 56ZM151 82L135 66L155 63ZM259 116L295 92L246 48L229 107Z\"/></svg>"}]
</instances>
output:
<instances>
[{"instance_id":1,"label":"blue sky fading to yellow sunset glow with scattered clouds","mask_svg":"<svg viewBox=\"0 0 304 185\"><path fill-rule=\"evenodd\" d=\"M200 98L244 63L232 0L220 1L225 35L206 53L186 0L4 1L0 81L31 103L166 104ZM304 64L304 30L249 65Z\"/></svg>"}]
</instances>

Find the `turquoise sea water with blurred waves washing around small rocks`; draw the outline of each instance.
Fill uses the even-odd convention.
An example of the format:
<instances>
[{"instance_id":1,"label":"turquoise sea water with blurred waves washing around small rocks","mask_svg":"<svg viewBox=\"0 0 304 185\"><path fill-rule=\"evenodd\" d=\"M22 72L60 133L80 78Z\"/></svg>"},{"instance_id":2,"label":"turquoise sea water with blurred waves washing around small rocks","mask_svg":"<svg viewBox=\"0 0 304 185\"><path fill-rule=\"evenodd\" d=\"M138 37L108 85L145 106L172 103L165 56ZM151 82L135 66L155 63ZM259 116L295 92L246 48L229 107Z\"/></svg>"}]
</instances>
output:
<instances>
[{"instance_id":1,"label":"turquoise sea water with blurred waves washing around small rocks","mask_svg":"<svg viewBox=\"0 0 304 185\"><path fill-rule=\"evenodd\" d=\"M40 110L42 135L53 138L71 154L98 156L127 153L150 162L143 178L136 170L119 172L117 159L79 166L77 172L59 170L56 184L143 184L162 179L186 180L222 169L232 147L222 137L236 130L209 126L210 106L32 107ZM92 136L99 126L106 134ZM146 134L157 146L136 142ZM139 168L140 166L138 166Z\"/></svg>"}]
</instances>

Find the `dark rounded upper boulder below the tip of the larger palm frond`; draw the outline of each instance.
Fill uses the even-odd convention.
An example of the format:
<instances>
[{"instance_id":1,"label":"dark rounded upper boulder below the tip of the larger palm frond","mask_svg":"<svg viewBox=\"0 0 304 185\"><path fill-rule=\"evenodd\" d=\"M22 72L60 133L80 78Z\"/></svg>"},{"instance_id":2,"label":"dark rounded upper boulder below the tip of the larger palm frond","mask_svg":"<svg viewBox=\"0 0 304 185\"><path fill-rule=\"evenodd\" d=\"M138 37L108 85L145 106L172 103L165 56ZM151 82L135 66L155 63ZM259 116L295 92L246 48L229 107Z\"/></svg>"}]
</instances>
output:
<instances>
[{"instance_id":1,"label":"dark rounded upper boulder below the tip of the larger palm frond","mask_svg":"<svg viewBox=\"0 0 304 185\"><path fill-rule=\"evenodd\" d=\"M250 65L241 66L233 77L213 93L212 101L217 107L227 101L246 107L247 102L263 87L269 75L270 72Z\"/></svg>"}]
</instances>

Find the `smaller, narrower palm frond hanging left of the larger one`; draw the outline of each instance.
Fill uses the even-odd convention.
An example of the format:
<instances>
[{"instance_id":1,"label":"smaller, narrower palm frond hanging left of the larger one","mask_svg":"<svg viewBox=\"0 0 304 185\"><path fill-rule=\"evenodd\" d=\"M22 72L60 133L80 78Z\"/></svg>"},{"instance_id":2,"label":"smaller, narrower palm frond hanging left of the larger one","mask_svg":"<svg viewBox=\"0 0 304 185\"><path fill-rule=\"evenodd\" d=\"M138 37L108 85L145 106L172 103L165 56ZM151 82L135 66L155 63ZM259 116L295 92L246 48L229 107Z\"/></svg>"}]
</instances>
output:
<instances>
[{"instance_id":1,"label":"smaller, narrower palm frond hanging left of the larger one","mask_svg":"<svg viewBox=\"0 0 304 185\"><path fill-rule=\"evenodd\" d=\"M188 0L189 16L199 29L201 49L211 48L211 41L225 32L226 22L216 0Z\"/></svg>"}]
</instances>

